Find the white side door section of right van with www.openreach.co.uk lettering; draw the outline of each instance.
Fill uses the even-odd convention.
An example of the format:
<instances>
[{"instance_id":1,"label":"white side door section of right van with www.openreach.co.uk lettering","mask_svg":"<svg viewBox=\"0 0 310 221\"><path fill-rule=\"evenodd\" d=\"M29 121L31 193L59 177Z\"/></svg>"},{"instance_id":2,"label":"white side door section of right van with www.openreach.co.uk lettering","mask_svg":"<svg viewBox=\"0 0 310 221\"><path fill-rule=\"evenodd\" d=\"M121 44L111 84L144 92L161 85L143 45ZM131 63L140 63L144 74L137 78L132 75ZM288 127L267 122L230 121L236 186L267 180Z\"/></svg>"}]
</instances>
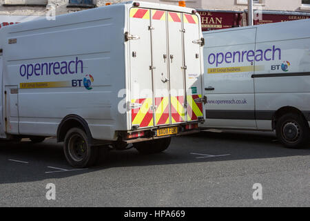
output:
<instances>
[{"instance_id":1,"label":"white side door section of right van with www.openreach.co.uk lettering","mask_svg":"<svg viewBox=\"0 0 310 221\"><path fill-rule=\"evenodd\" d=\"M256 128L254 60L256 28L205 32L205 116L201 126Z\"/></svg>"}]
</instances>

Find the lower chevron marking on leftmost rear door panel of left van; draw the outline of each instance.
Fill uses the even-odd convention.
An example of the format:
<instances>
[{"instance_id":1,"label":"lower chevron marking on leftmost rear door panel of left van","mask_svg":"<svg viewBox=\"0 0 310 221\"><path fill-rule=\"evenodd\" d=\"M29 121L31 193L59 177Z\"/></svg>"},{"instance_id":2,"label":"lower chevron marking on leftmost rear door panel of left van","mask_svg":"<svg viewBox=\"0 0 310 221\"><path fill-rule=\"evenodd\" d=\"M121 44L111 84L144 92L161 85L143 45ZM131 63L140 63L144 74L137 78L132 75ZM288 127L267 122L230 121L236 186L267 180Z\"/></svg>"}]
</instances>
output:
<instances>
[{"instance_id":1,"label":"lower chevron marking on leftmost rear door panel of left van","mask_svg":"<svg viewBox=\"0 0 310 221\"><path fill-rule=\"evenodd\" d=\"M141 104L140 108L132 109L132 124L153 126L152 98L132 99L132 104Z\"/></svg>"}]
</instances>

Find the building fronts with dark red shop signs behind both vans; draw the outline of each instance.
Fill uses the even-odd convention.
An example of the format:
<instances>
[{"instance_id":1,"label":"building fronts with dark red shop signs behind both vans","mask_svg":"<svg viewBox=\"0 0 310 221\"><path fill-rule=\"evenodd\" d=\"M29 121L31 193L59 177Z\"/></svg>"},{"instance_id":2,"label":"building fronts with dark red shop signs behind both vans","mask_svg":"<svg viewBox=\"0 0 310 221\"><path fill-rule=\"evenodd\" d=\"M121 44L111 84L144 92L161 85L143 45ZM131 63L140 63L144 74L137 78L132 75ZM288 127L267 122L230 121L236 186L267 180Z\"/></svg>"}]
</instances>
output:
<instances>
[{"instance_id":1,"label":"building fronts with dark red shop signs behind both vans","mask_svg":"<svg viewBox=\"0 0 310 221\"><path fill-rule=\"evenodd\" d=\"M13 23L87 10L125 0L0 0L0 28ZM147 0L178 5L178 0ZM203 30L247 25L247 0L189 0L201 16ZM254 0L254 24L310 18L310 0Z\"/></svg>"}]
</instances>

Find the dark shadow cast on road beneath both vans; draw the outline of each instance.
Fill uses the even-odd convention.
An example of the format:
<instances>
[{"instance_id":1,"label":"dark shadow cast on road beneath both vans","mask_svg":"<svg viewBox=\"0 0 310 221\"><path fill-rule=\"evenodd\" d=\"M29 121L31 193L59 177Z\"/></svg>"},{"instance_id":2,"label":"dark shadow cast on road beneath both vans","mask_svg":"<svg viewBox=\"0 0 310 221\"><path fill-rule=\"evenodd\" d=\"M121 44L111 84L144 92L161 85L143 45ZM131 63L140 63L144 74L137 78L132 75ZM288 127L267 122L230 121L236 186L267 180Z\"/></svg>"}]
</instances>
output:
<instances>
[{"instance_id":1,"label":"dark shadow cast on road beneath both vans","mask_svg":"<svg viewBox=\"0 0 310 221\"><path fill-rule=\"evenodd\" d=\"M141 155L134 148L128 151L111 151L105 161L103 151L96 166L82 171L52 171L48 166L72 169L63 155L62 143L46 140L41 144L22 142L0 144L0 184L33 182L46 179L59 179L82 173L124 166L152 166L167 164L188 164L229 160L262 159L310 155L309 146L304 149L284 148L272 133L223 131L214 133L203 131L194 135L174 137L167 151L154 155ZM200 155L227 155L223 157L197 158ZM11 162L21 160L28 164Z\"/></svg>"}]
</instances>

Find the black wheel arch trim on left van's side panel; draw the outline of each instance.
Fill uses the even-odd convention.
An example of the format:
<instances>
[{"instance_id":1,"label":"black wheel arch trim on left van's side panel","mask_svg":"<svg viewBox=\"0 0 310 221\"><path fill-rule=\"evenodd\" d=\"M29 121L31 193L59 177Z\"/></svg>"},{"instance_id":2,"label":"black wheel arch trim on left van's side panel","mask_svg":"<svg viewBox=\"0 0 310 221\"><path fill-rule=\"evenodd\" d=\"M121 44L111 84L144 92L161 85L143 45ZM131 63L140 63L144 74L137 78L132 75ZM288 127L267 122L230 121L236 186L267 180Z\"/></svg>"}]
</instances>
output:
<instances>
[{"instance_id":1,"label":"black wheel arch trim on left van's side panel","mask_svg":"<svg viewBox=\"0 0 310 221\"><path fill-rule=\"evenodd\" d=\"M65 140L66 133L74 127L83 129L87 135L88 143L92 144L93 139L90 128L88 127L85 119L79 115L67 115L61 120L61 123L57 128L57 142L63 142Z\"/></svg>"}]
</instances>

